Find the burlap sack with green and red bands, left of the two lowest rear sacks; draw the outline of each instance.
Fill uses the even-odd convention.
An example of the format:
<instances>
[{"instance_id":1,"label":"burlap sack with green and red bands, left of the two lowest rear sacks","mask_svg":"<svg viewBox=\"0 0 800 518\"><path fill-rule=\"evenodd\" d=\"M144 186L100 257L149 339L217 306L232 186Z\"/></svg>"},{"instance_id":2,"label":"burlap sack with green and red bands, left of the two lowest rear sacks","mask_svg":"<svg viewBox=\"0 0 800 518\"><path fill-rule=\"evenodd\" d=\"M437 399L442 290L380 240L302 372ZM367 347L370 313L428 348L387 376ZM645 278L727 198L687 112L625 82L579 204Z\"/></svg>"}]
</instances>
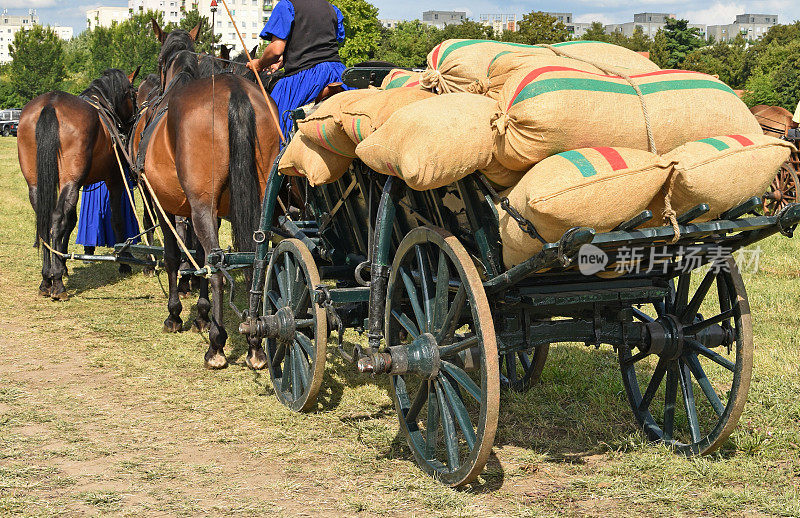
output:
<instances>
[{"instance_id":1,"label":"burlap sack with green and red bands, left of the two lowest rear sacks","mask_svg":"<svg viewBox=\"0 0 800 518\"><path fill-rule=\"evenodd\" d=\"M672 161L638 149L578 149L543 160L503 194L544 239L556 242L572 227L608 232L641 213L672 167ZM499 205L497 212L507 267L542 249Z\"/></svg>"}]
</instances>

